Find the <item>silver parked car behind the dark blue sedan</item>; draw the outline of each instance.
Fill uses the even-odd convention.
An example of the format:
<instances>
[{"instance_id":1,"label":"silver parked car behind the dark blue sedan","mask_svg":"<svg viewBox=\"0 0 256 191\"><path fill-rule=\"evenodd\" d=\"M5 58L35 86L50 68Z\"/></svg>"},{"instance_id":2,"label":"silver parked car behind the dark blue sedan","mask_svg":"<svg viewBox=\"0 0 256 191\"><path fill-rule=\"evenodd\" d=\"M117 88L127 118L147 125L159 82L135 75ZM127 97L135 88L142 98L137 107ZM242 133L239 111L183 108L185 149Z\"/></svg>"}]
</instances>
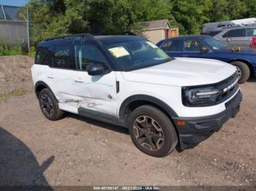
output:
<instances>
[{"instance_id":1,"label":"silver parked car behind the dark blue sedan","mask_svg":"<svg viewBox=\"0 0 256 191\"><path fill-rule=\"evenodd\" d=\"M236 26L211 31L211 36L231 46L249 47L252 36L256 36L256 26Z\"/></svg>"}]
</instances>

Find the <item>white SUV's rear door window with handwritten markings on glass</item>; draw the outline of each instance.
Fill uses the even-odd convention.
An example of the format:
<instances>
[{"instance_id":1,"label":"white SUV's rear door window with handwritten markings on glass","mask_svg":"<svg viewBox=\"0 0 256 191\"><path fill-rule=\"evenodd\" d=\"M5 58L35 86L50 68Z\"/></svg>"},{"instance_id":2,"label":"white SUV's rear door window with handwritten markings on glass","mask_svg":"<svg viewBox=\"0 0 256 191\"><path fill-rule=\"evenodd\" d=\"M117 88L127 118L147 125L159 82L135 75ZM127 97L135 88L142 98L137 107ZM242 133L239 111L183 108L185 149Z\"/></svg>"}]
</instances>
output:
<instances>
[{"instance_id":1,"label":"white SUV's rear door window with handwritten markings on glass","mask_svg":"<svg viewBox=\"0 0 256 191\"><path fill-rule=\"evenodd\" d=\"M75 65L72 63L72 47L56 47L52 66L60 69L75 69Z\"/></svg>"}]
</instances>

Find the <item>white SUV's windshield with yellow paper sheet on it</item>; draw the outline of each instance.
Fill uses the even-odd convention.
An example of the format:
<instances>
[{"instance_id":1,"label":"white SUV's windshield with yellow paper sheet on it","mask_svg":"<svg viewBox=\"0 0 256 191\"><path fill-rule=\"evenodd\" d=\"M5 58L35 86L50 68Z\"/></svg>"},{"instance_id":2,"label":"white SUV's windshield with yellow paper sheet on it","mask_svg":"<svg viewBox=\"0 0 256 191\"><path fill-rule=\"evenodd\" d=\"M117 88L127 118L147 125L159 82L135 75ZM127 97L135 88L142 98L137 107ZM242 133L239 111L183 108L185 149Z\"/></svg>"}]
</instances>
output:
<instances>
[{"instance_id":1,"label":"white SUV's windshield with yellow paper sheet on it","mask_svg":"<svg viewBox=\"0 0 256 191\"><path fill-rule=\"evenodd\" d=\"M132 41L111 44L107 47L122 71L131 71L171 61L165 52L152 42Z\"/></svg>"}]
</instances>

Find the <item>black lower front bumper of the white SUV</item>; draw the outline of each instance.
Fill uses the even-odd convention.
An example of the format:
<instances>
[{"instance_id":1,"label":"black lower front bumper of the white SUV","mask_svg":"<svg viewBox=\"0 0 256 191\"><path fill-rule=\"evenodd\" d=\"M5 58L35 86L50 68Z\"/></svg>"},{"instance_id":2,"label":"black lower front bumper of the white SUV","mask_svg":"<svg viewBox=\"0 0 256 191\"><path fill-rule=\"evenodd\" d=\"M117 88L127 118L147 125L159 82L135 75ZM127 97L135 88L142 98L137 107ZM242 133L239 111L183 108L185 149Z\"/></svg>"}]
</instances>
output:
<instances>
[{"instance_id":1,"label":"black lower front bumper of the white SUV","mask_svg":"<svg viewBox=\"0 0 256 191\"><path fill-rule=\"evenodd\" d=\"M236 117L239 112L242 94L239 91L225 104L225 111L207 117L173 117L177 121L184 121L185 125L177 125L179 136L178 151L195 147L201 141L207 139L212 133L222 128L228 119Z\"/></svg>"}]
</instances>

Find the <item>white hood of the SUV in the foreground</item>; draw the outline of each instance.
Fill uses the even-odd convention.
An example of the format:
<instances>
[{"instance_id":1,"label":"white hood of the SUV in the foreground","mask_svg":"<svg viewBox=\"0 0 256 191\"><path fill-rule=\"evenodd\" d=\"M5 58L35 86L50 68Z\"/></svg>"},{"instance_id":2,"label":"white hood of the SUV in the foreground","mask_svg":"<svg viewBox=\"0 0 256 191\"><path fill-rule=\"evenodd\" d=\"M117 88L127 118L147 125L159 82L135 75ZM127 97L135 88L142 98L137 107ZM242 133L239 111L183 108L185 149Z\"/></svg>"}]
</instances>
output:
<instances>
[{"instance_id":1,"label":"white hood of the SUV in the foreground","mask_svg":"<svg viewBox=\"0 0 256 191\"><path fill-rule=\"evenodd\" d=\"M191 86L221 82L236 72L222 61L176 58L173 61L135 71L122 71L125 80L159 85Z\"/></svg>"}]
</instances>

